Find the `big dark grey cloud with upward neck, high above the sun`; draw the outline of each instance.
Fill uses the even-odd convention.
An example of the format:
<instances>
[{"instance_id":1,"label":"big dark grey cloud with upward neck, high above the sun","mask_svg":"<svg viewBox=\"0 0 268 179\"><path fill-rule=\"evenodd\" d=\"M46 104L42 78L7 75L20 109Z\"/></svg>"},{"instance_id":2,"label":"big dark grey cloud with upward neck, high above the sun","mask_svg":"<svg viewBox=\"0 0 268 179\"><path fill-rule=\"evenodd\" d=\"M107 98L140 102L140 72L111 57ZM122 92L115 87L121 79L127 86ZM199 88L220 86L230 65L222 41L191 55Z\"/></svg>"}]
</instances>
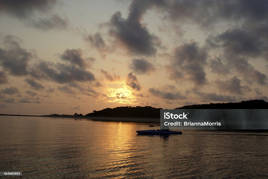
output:
<instances>
[{"instance_id":1,"label":"big dark grey cloud with upward neck, high above the sun","mask_svg":"<svg viewBox=\"0 0 268 179\"><path fill-rule=\"evenodd\" d=\"M146 25L141 24L141 16L146 9L140 10L143 7L135 5L135 2L142 3L142 1L133 1L126 19L122 18L119 11L113 14L109 23L109 33L132 54L154 55L159 39L148 31ZM148 4L146 1L143 2Z\"/></svg>"}]
</instances>

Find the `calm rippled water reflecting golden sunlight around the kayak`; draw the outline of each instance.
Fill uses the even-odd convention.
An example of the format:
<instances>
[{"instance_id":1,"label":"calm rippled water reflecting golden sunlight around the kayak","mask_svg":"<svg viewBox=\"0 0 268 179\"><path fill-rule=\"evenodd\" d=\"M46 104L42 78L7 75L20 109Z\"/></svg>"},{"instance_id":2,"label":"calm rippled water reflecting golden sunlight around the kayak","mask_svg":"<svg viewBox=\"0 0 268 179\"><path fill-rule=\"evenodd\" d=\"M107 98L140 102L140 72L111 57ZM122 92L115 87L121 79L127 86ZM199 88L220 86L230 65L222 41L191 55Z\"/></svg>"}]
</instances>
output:
<instances>
[{"instance_id":1,"label":"calm rippled water reflecting golden sunlight around the kayak","mask_svg":"<svg viewBox=\"0 0 268 179\"><path fill-rule=\"evenodd\" d=\"M0 171L22 171L23 178L268 177L268 133L183 130L162 137L136 135L150 125L141 123L18 116L0 122Z\"/></svg>"}]
</instances>

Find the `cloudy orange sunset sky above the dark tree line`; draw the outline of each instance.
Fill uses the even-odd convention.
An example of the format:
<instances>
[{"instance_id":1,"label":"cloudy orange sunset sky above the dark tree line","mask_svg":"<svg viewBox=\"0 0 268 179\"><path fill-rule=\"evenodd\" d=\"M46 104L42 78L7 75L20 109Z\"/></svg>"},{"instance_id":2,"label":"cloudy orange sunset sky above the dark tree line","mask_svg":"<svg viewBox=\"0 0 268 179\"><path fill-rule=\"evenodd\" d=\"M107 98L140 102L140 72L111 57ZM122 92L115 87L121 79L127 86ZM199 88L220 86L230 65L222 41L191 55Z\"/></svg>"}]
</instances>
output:
<instances>
[{"instance_id":1,"label":"cloudy orange sunset sky above the dark tree line","mask_svg":"<svg viewBox=\"0 0 268 179\"><path fill-rule=\"evenodd\" d=\"M2 0L0 114L268 101L266 0Z\"/></svg>"}]
</instances>

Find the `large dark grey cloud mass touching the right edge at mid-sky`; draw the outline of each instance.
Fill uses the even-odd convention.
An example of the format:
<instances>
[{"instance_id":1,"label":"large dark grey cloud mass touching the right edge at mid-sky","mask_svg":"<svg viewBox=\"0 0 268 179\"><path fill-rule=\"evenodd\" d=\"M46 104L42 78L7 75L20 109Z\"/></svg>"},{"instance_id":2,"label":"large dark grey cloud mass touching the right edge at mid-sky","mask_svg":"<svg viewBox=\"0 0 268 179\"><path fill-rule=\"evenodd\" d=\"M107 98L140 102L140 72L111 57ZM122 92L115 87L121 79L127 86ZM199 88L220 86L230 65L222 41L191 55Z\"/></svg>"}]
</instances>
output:
<instances>
[{"instance_id":1,"label":"large dark grey cloud mass touching the right edge at mid-sky","mask_svg":"<svg viewBox=\"0 0 268 179\"><path fill-rule=\"evenodd\" d=\"M222 64L221 61L218 61L218 63L217 61L212 61L211 69L218 69L218 72L224 72L227 65L230 69L235 69L239 75L242 75L248 83L267 84L267 75L256 70L249 63L252 58L267 60L268 40L266 37L268 37L268 23L261 26L241 26L240 28L226 30L215 37L209 37L207 40L213 44L211 45L210 43L209 45L212 48L216 48L216 50L218 47L223 49L223 57L226 61L225 64ZM266 31L263 30L265 28Z\"/></svg>"}]
</instances>

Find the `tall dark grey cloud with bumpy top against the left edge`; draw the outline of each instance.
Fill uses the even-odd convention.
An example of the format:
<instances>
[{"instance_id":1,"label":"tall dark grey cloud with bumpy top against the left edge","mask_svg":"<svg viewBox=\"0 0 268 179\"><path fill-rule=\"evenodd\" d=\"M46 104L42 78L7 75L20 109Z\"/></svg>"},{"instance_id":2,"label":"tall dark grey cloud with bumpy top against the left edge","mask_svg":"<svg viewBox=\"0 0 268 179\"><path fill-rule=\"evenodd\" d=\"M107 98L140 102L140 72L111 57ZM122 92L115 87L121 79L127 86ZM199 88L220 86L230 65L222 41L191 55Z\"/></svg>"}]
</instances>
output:
<instances>
[{"instance_id":1,"label":"tall dark grey cloud with bumpy top against the left edge","mask_svg":"<svg viewBox=\"0 0 268 179\"><path fill-rule=\"evenodd\" d=\"M7 35L3 38L5 49L0 48L0 63L11 75L27 75L27 67L32 54L20 47L20 39Z\"/></svg>"}]
</instances>

